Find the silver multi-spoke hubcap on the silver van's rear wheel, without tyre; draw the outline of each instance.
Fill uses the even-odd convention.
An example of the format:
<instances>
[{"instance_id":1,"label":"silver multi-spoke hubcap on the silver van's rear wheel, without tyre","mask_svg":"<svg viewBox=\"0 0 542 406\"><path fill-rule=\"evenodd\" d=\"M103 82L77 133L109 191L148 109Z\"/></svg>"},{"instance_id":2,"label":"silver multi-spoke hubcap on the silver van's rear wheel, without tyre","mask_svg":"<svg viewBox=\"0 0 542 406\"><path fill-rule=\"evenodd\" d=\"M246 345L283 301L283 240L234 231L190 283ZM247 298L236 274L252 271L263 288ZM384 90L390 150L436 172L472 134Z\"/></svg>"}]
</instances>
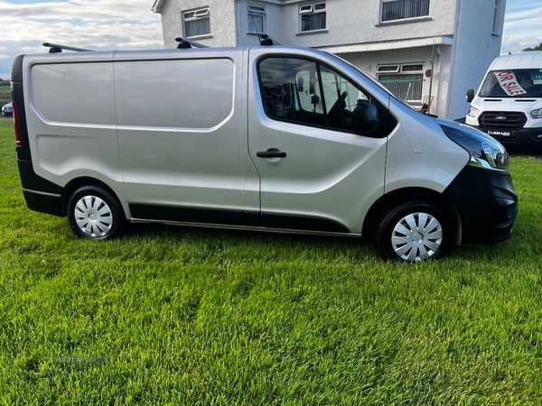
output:
<instances>
[{"instance_id":1,"label":"silver multi-spoke hubcap on the silver van's rear wheel, without tyre","mask_svg":"<svg viewBox=\"0 0 542 406\"><path fill-rule=\"evenodd\" d=\"M80 198L73 214L79 229L90 238L107 235L113 225L113 214L107 203L97 196Z\"/></svg>"}]
</instances>

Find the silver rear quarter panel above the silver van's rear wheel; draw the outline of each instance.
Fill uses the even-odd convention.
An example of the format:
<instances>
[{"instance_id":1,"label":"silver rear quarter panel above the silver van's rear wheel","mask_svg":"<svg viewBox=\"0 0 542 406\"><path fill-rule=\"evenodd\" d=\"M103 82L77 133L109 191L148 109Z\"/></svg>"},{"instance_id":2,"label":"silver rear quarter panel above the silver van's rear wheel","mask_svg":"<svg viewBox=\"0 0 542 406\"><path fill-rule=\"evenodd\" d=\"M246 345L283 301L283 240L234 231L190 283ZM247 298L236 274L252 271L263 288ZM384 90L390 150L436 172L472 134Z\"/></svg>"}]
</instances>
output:
<instances>
[{"instance_id":1,"label":"silver rear quarter panel above the silver van's rear wheel","mask_svg":"<svg viewBox=\"0 0 542 406\"><path fill-rule=\"evenodd\" d=\"M101 180L123 201L113 52L25 57L23 82L33 170L64 187Z\"/></svg>"}]
</instances>

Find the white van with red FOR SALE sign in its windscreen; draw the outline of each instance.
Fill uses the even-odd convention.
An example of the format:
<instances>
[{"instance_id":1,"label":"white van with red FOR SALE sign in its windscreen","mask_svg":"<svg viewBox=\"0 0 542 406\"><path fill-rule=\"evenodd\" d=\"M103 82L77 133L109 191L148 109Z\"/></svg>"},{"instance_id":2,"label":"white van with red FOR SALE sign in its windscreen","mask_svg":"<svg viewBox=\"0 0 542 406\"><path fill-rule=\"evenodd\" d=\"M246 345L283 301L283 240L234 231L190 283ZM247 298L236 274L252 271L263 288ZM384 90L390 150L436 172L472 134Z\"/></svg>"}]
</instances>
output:
<instances>
[{"instance_id":1,"label":"white van with red FOR SALE sign in its windscreen","mask_svg":"<svg viewBox=\"0 0 542 406\"><path fill-rule=\"evenodd\" d=\"M528 152L542 148L542 51L503 55L493 60L471 103L465 123L490 134L505 147Z\"/></svg>"}]
</instances>

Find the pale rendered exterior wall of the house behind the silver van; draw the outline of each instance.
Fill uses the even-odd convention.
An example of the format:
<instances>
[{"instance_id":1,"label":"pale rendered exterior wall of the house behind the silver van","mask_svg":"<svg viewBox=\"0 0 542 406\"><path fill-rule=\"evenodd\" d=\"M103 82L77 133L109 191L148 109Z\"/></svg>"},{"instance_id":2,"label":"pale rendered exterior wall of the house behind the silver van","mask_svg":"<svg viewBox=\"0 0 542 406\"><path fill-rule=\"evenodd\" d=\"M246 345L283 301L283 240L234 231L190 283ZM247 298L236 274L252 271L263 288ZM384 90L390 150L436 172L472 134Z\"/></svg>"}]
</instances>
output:
<instances>
[{"instance_id":1,"label":"pale rendered exterior wall of the house behind the silver van","mask_svg":"<svg viewBox=\"0 0 542 406\"><path fill-rule=\"evenodd\" d=\"M182 12L203 6L210 7L211 33L195 41L257 45L257 35L248 33L247 5L265 5L266 33L273 39L338 53L373 78L380 64L423 62L425 70L431 69L423 85L423 96L433 96L430 113L453 119L465 115L466 89L479 86L500 53L501 38L491 34L494 0L431 0L427 17L400 23L379 22L380 0L322 1L326 29L300 32L299 6L313 1L163 0L164 46L177 46L174 38L182 36ZM500 30L505 6L506 0L500 0Z\"/></svg>"}]
</instances>

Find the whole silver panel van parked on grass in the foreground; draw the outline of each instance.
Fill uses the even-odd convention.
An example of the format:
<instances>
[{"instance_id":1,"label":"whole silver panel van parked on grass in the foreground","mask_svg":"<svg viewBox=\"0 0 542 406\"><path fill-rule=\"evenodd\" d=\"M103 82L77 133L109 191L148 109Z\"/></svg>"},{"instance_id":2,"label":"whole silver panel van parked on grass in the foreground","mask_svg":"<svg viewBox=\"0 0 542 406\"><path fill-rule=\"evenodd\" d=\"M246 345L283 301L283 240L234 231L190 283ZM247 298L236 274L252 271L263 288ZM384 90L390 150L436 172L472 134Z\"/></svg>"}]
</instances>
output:
<instances>
[{"instance_id":1,"label":"whole silver panel van parked on grass in the foreground","mask_svg":"<svg viewBox=\"0 0 542 406\"><path fill-rule=\"evenodd\" d=\"M20 55L12 86L26 203L80 237L126 221L363 235L410 262L511 235L500 143L322 51Z\"/></svg>"}]
</instances>

